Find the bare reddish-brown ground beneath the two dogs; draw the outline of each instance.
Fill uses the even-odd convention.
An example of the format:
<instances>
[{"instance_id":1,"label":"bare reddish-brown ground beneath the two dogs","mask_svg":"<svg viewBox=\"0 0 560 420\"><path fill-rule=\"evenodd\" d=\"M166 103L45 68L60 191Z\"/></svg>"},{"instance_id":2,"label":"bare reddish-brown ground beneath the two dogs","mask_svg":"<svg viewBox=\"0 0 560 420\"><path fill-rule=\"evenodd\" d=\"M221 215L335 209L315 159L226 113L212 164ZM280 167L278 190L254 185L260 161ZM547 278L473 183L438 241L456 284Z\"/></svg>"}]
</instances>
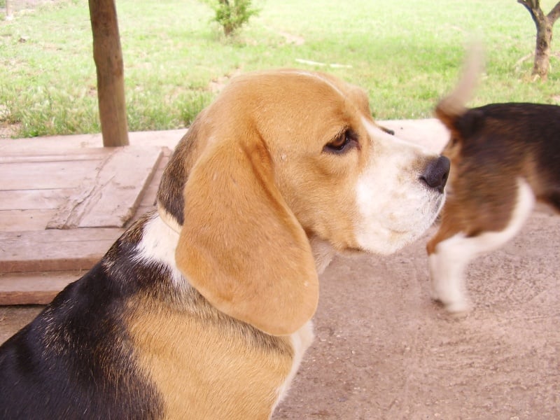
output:
<instances>
[{"instance_id":1,"label":"bare reddish-brown ground beneath the two dogs","mask_svg":"<svg viewBox=\"0 0 560 420\"><path fill-rule=\"evenodd\" d=\"M462 317L429 297L435 228L395 255L335 258L316 339L273 419L560 419L559 227L539 207L475 260ZM39 310L0 307L0 342Z\"/></svg>"}]
</instances>

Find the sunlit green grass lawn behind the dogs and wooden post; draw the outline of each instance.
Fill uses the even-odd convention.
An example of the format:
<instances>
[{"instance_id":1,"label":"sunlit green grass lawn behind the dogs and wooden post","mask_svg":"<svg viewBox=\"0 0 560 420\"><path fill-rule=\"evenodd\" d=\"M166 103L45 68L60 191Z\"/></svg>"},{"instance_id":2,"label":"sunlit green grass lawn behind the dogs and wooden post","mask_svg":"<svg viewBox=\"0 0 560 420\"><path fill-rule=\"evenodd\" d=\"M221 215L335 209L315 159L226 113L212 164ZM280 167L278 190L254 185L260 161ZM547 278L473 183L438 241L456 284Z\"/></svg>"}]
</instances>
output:
<instances>
[{"instance_id":1,"label":"sunlit green grass lawn behind the dogs and wooden post","mask_svg":"<svg viewBox=\"0 0 560 420\"><path fill-rule=\"evenodd\" d=\"M547 13L556 0L542 3ZM486 73L472 105L559 102L558 57L547 83L531 82L532 58L516 65L533 52L535 27L515 0L254 0L260 13L232 39L201 1L116 5L131 131L186 127L216 95L216 82L279 66L321 69L361 85L379 119L430 117L473 35L484 39ZM560 50L557 38L553 50ZM99 132L87 1L61 0L0 20L0 74L0 125L18 123L18 137Z\"/></svg>"}]
</instances>

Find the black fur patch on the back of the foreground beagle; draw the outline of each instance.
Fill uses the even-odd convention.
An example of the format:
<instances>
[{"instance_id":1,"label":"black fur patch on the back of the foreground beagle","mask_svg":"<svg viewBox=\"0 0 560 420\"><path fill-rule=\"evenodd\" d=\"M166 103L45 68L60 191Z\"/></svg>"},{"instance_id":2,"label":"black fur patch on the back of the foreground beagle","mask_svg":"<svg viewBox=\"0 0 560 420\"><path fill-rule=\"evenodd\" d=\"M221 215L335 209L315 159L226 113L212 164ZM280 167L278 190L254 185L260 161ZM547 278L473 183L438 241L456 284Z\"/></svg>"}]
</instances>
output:
<instances>
[{"instance_id":1,"label":"black fur patch on the back of the foreground beagle","mask_svg":"<svg viewBox=\"0 0 560 420\"><path fill-rule=\"evenodd\" d=\"M123 323L123 300L148 280L141 265L111 258L127 246L119 239L0 346L0 419L153 419L162 411Z\"/></svg>"}]
</instances>

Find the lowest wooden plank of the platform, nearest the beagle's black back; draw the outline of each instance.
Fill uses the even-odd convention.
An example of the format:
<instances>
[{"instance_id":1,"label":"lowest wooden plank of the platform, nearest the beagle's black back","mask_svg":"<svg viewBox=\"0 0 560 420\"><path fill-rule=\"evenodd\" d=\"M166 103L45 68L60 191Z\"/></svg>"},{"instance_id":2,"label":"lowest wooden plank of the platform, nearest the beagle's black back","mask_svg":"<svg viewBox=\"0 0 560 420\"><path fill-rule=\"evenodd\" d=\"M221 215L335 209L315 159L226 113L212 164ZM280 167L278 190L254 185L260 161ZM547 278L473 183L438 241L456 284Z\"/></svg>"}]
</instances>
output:
<instances>
[{"instance_id":1,"label":"lowest wooden plank of the platform, nearest the beagle's black back","mask_svg":"<svg viewBox=\"0 0 560 420\"><path fill-rule=\"evenodd\" d=\"M48 304L85 271L0 274L0 305Z\"/></svg>"}]
</instances>

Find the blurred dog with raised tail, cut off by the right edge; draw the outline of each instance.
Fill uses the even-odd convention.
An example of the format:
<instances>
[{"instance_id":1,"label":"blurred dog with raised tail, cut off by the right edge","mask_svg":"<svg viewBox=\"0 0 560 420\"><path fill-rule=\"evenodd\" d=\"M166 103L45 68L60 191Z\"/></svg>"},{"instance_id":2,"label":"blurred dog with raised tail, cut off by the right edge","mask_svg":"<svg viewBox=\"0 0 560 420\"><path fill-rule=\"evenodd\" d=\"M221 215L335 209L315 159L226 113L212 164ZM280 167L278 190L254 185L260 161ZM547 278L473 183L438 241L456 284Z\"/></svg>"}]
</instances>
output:
<instances>
[{"instance_id":1,"label":"blurred dog with raised tail, cut off by the right edge","mask_svg":"<svg viewBox=\"0 0 560 420\"><path fill-rule=\"evenodd\" d=\"M435 108L449 129L451 160L441 225L427 244L432 295L450 312L470 309L463 273L477 255L521 230L535 200L560 210L560 106L489 104L465 108L479 55Z\"/></svg>"}]
</instances>

